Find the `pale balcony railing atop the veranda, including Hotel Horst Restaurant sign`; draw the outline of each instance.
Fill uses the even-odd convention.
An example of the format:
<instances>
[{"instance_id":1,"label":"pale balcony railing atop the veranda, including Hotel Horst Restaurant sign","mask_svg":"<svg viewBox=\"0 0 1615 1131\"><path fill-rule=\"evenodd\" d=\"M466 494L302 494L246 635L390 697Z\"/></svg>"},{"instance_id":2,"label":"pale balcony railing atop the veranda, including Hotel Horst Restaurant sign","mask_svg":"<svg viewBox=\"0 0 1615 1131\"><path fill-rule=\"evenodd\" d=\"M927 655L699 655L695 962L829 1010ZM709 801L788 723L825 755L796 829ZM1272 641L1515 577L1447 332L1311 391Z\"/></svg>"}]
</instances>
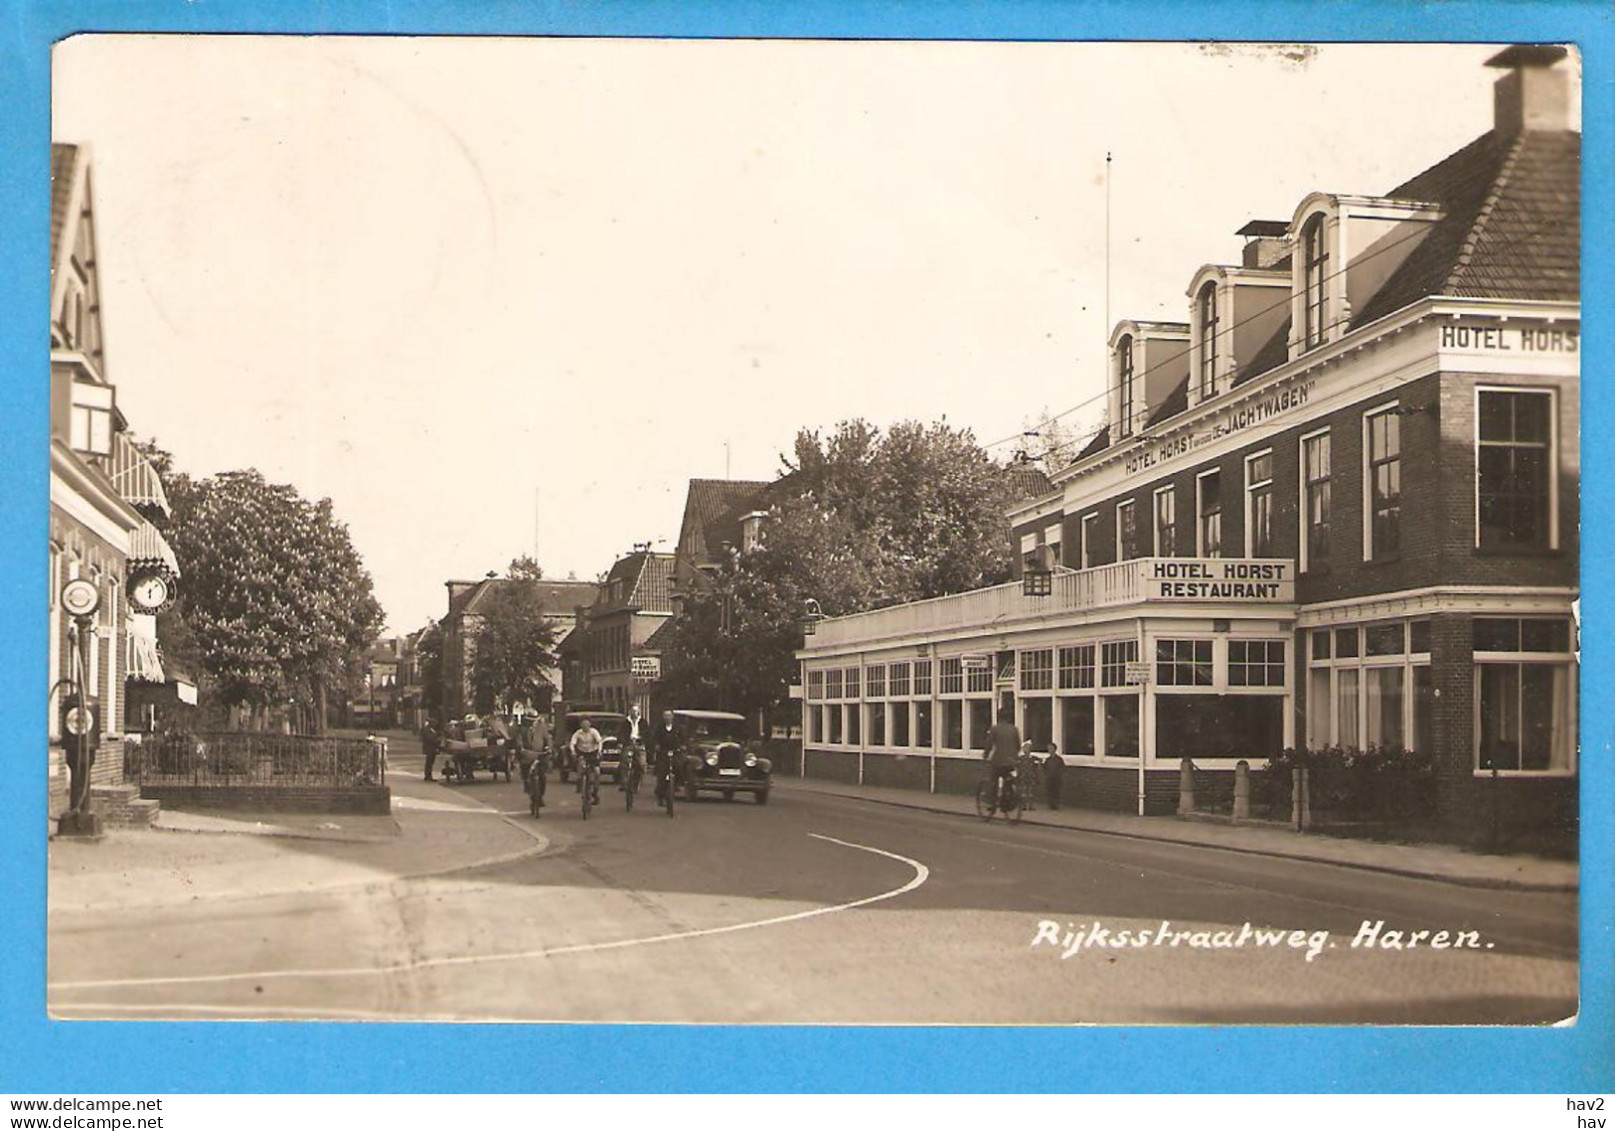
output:
<instances>
[{"instance_id":1,"label":"pale balcony railing atop the veranda, including Hotel Horst Restaurant sign","mask_svg":"<svg viewBox=\"0 0 1615 1131\"><path fill-rule=\"evenodd\" d=\"M870 609L819 622L812 651L963 629L1006 629L1053 616L1129 604L1276 606L1295 601L1295 564L1284 557L1135 557L1059 572L1048 596L1021 582Z\"/></svg>"}]
</instances>

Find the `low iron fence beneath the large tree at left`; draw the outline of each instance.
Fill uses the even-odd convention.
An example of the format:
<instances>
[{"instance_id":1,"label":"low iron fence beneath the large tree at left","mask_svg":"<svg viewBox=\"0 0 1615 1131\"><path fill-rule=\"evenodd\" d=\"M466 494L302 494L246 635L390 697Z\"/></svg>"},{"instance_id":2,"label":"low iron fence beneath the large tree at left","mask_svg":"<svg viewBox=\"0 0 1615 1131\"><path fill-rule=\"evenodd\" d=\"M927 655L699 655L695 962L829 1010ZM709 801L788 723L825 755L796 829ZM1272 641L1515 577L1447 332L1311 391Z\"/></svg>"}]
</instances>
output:
<instances>
[{"instance_id":1,"label":"low iron fence beneath the large tree at left","mask_svg":"<svg viewBox=\"0 0 1615 1131\"><path fill-rule=\"evenodd\" d=\"M386 743L221 730L141 735L124 743L137 785L363 788L386 784Z\"/></svg>"}]
</instances>

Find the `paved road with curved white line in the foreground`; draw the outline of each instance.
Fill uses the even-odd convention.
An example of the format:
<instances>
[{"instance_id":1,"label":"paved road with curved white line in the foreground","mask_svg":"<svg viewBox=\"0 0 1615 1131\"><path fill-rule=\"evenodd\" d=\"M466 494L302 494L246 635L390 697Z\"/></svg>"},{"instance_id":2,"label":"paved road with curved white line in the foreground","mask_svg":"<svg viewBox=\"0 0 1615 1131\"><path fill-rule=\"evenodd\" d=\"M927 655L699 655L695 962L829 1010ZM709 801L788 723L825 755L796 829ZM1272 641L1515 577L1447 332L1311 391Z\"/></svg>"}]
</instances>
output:
<instances>
[{"instance_id":1,"label":"paved road with curved white line in the foreground","mask_svg":"<svg viewBox=\"0 0 1615 1131\"><path fill-rule=\"evenodd\" d=\"M407 879L386 874L386 845L286 842L383 879L61 908L53 1011L1168 1024L1575 1013L1570 895L982 824L788 785L767 806L703 800L673 819L649 805L628 814L607 788L585 822L572 788L551 782L533 822L518 784L426 785L418 766L394 758L417 850L434 822L462 829L480 813L488 856L504 863ZM510 822L543 829L549 848L509 851ZM234 839L216 840L233 851ZM1429 934L1412 950L1353 947L1365 921L1384 923L1381 939ZM1063 957L1068 931L1095 926L1106 944L1121 931L1148 931L1148 944ZM1256 929L1268 927L1303 934L1266 945ZM1437 931L1478 932L1479 948L1433 950Z\"/></svg>"}]
</instances>

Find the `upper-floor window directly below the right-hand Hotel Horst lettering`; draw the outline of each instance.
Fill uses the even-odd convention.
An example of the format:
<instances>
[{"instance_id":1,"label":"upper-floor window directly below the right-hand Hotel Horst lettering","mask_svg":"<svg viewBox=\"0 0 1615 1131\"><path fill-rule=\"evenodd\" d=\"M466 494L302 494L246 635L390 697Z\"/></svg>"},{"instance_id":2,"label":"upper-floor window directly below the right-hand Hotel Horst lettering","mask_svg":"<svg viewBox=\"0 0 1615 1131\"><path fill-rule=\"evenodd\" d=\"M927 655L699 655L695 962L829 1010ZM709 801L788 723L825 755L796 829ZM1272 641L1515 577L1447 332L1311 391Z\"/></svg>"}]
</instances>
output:
<instances>
[{"instance_id":1,"label":"upper-floor window directly below the right-hand Hotel Horst lettering","mask_svg":"<svg viewBox=\"0 0 1615 1131\"><path fill-rule=\"evenodd\" d=\"M1481 389L1476 544L1547 549L1554 535L1554 394Z\"/></svg>"}]
</instances>

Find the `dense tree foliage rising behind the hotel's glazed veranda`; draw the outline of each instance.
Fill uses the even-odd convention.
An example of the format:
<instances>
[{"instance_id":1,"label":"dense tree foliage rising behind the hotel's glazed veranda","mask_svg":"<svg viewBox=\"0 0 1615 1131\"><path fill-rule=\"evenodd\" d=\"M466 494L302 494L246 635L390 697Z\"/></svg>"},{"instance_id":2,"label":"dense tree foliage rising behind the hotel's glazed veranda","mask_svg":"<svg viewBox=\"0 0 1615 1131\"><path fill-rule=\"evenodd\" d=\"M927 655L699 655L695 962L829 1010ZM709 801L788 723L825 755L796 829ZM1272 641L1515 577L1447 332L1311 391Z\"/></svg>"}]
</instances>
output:
<instances>
[{"instance_id":1,"label":"dense tree foliage rising behind the hotel's glazed veranda","mask_svg":"<svg viewBox=\"0 0 1615 1131\"><path fill-rule=\"evenodd\" d=\"M849 420L801 431L785 467L762 544L690 593L669 629L662 690L682 706L782 703L809 599L846 616L1011 575L1009 481L967 430Z\"/></svg>"}]
</instances>

